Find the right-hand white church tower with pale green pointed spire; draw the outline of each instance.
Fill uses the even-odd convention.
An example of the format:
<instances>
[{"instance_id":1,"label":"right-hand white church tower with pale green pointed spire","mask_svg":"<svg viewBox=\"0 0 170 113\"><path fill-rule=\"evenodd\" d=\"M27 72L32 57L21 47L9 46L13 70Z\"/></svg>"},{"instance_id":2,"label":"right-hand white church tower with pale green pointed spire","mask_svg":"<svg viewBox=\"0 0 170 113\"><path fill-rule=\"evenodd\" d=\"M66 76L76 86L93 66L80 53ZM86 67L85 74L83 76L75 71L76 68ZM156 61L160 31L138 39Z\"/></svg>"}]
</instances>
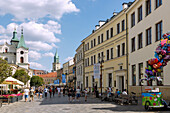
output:
<instances>
[{"instance_id":1,"label":"right-hand white church tower with pale green pointed spire","mask_svg":"<svg viewBox=\"0 0 170 113\"><path fill-rule=\"evenodd\" d=\"M24 36L23 36L23 28L21 30L21 38L17 46L16 52L16 64L22 68L28 69L28 48L26 47Z\"/></svg>"}]
</instances>

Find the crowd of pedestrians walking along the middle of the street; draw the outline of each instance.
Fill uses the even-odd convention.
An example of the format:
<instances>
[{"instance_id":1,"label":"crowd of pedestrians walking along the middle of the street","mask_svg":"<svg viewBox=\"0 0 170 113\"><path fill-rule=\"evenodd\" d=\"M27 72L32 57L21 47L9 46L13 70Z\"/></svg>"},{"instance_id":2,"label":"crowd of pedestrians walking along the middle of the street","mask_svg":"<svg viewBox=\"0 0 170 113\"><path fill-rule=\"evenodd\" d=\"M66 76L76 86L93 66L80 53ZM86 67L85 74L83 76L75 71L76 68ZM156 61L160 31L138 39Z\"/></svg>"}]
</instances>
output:
<instances>
[{"instance_id":1,"label":"crowd of pedestrians walking along the middle of the street","mask_svg":"<svg viewBox=\"0 0 170 113\"><path fill-rule=\"evenodd\" d=\"M52 96L54 97L55 94L58 94L58 96L61 96L61 92L63 97L66 95L68 95L68 101L69 102L74 102L74 101L80 101L80 96L83 93L85 95L85 101L87 101L87 90L85 89L84 91L81 91L80 87L78 86L77 89L75 89L74 87L55 87L55 86L46 86L45 88L37 87L37 88L25 88L24 89L24 96L25 96L25 102L28 101L34 101L34 95L37 96L38 99L42 99L43 95L44 97L47 99L48 95L50 98L52 98Z\"/></svg>"}]
</instances>

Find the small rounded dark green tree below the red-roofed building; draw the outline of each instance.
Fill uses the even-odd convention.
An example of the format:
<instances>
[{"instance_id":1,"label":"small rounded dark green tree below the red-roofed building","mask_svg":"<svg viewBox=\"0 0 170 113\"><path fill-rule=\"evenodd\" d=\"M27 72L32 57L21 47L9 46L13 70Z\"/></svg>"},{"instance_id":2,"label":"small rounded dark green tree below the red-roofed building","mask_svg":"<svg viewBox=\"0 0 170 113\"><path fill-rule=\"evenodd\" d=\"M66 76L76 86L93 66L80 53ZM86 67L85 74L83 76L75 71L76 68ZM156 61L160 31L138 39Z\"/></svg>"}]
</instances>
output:
<instances>
[{"instance_id":1,"label":"small rounded dark green tree below the red-roofed building","mask_svg":"<svg viewBox=\"0 0 170 113\"><path fill-rule=\"evenodd\" d=\"M31 86L41 86L44 84L43 78L39 76L33 76L30 81Z\"/></svg>"}]
</instances>

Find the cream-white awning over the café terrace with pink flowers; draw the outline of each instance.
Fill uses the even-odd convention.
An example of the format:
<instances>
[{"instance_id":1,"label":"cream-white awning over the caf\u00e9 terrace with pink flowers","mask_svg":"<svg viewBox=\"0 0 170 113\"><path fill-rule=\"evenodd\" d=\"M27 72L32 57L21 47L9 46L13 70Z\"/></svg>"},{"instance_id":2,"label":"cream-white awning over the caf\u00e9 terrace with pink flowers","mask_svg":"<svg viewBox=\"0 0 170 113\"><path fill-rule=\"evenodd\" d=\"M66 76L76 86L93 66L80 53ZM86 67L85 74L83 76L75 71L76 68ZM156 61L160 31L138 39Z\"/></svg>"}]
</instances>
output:
<instances>
[{"instance_id":1,"label":"cream-white awning over the caf\u00e9 terrace with pink flowers","mask_svg":"<svg viewBox=\"0 0 170 113\"><path fill-rule=\"evenodd\" d=\"M13 78L13 77L8 77L4 80L3 84L19 84L19 85L24 85L23 82Z\"/></svg>"}]
</instances>

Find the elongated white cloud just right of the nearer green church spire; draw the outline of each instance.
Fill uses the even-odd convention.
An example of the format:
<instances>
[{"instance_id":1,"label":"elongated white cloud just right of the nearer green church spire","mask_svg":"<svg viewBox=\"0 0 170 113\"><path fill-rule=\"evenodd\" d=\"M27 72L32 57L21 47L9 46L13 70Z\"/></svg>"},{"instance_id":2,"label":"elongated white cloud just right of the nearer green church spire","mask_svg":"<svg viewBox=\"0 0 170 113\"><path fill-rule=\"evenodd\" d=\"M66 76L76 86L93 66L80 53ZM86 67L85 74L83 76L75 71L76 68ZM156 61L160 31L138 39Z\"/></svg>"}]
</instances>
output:
<instances>
[{"instance_id":1,"label":"elongated white cloud just right of the nearer green church spire","mask_svg":"<svg viewBox=\"0 0 170 113\"><path fill-rule=\"evenodd\" d=\"M26 41L26 45L29 47L29 49L35 51L50 51L53 49L53 46L41 41Z\"/></svg>"}]
</instances>

